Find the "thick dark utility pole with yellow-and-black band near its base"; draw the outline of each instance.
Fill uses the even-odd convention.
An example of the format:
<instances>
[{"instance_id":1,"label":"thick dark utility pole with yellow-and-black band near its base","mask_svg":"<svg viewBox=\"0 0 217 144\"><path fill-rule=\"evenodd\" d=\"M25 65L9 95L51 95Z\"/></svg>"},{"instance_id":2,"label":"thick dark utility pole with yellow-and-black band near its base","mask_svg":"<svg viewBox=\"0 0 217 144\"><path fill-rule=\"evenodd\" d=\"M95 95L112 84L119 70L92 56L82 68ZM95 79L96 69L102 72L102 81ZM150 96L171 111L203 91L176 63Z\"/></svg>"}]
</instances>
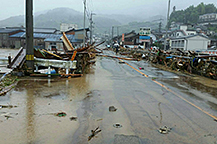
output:
<instances>
[{"instance_id":1,"label":"thick dark utility pole with yellow-and-black band near its base","mask_svg":"<svg viewBox=\"0 0 217 144\"><path fill-rule=\"evenodd\" d=\"M33 49L33 0L26 0L26 65L34 70Z\"/></svg>"}]
</instances>

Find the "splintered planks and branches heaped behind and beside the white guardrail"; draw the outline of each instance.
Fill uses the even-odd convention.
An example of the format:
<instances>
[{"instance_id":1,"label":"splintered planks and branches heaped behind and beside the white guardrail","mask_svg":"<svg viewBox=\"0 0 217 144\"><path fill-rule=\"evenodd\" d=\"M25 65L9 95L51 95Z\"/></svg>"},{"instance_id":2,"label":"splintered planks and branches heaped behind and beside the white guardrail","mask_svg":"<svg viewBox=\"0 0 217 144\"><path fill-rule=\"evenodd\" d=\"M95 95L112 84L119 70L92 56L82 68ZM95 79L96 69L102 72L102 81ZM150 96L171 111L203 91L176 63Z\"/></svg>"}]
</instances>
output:
<instances>
[{"instance_id":1,"label":"splintered planks and branches heaped behind and beside the white guardrail","mask_svg":"<svg viewBox=\"0 0 217 144\"><path fill-rule=\"evenodd\" d=\"M96 53L102 53L101 50L97 49L97 47L104 43L101 42L99 44L89 44L80 47L80 48L74 48L68 38L66 37L65 33L63 33L63 36L61 37L63 41L63 52L61 51L47 51L47 50L36 50L34 51L34 56L36 58L42 58L42 59L53 59L53 60L63 60L63 61L74 61L76 60L76 69L71 69L69 73L61 74L62 76L78 76L77 74L85 73L85 69L88 65L94 64ZM40 67L43 68L43 67ZM57 69L54 68L56 72L64 71L63 69Z\"/></svg>"}]
</instances>

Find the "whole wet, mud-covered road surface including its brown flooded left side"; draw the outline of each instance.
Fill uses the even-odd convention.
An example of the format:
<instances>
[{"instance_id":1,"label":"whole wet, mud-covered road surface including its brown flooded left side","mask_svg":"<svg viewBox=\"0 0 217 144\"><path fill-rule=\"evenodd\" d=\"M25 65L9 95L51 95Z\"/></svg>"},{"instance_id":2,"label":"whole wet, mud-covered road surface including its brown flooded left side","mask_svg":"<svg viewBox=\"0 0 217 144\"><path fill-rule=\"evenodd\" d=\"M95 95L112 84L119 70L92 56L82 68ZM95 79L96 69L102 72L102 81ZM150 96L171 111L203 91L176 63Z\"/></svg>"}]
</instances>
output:
<instances>
[{"instance_id":1,"label":"whole wet, mud-covered road surface including its brown flooded left side","mask_svg":"<svg viewBox=\"0 0 217 144\"><path fill-rule=\"evenodd\" d=\"M105 51L105 54L113 54ZM144 61L146 78L118 59L98 57L81 78L50 80L24 78L13 91L0 97L0 143L6 144L215 144L217 122L182 100L182 96L217 116L217 95L189 84L186 76L165 72ZM156 80L174 93L153 82ZM109 107L117 108L109 112ZM66 117L54 113L65 112ZM6 118L5 115L11 116ZM70 120L70 117L77 120ZM120 128L114 127L120 124ZM102 131L88 141L91 130ZM171 128L168 134L158 130Z\"/></svg>"}]
</instances>

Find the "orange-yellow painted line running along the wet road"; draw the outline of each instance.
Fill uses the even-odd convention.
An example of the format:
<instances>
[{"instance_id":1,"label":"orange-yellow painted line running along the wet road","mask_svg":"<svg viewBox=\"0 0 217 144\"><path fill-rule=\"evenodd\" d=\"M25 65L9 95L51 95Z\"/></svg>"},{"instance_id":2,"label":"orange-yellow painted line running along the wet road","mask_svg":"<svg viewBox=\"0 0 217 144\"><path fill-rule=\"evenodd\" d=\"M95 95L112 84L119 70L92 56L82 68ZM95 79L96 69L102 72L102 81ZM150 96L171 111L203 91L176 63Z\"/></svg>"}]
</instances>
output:
<instances>
[{"instance_id":1,"label":"orange-yellow painted line running along the wet road","mask_svg":"<svg viewBox=\"0 0 217 144\"><path fill-rule=\"evenodd\" d=\"M140 74L142 74L143 76L148 78L148 75L144 74L143 72L139 71L138 69L134 68L133 66L131 66L130 64L128 64L127 62L119 59L121 62L124 62L126 65L128 65L129 67L131 67L132 69L136 70L137 72L139 72ZM171 90L170 88L166 87L165 85L161 84L160 82L152 79L153 82L155 82L156 84L160 85L161 87L165 88L166 90L170 91L171 93L173 93L174 95L178 96L180 99L182 99L183 101L187 102L188 104L192 105L193 107L197 108L198 110L200 110L201 112L205 113L206 115L212 117L215 121L217 121L217 117L208 113L207 111L203 110L202 108L196 106L195 104L193 104L192 102L188 101L187 99L183 98L181 95L177 94L176 92L174 92L173 90Z\"/></svg>"}]
</instances>

